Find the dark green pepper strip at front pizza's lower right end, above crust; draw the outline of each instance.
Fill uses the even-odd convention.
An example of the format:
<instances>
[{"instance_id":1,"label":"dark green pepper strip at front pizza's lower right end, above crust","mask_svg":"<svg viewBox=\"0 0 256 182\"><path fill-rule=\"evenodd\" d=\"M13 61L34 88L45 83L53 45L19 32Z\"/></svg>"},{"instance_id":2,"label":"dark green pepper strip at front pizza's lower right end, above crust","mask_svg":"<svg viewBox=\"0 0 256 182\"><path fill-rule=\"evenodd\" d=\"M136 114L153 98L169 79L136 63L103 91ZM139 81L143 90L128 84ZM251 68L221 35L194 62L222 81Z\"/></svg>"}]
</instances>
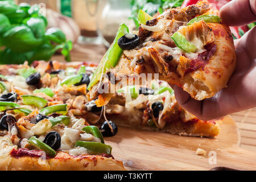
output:
<instances>
[{"instance_id":1,"label":"dark green pepper strip at front pizza's lower right end, above crust","mask_svg":"<svg viewBox=\"0 0 256 182\"><path fill-rule=\"evenodd\" d=\"M96 154L109 154L111 155L112 147L98 142L84 142L84 141L77 141L76 147L84 147Z\"/></svg>"}]
</instances>

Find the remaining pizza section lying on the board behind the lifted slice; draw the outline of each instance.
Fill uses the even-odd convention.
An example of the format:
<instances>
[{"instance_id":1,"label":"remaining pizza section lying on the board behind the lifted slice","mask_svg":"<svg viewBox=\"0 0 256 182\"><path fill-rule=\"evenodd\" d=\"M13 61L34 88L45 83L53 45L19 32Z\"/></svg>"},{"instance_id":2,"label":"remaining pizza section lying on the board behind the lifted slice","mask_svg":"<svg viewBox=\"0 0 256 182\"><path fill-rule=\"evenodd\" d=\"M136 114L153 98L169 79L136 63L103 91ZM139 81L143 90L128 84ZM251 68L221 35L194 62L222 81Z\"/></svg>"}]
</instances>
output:
<instances>
[{"instance_id":1,"label":"remaining pizza section lying on the board behind the lifted slice","mask_svg":"<svg viewBox=\"0 0 256 182\"><path fill-rule=\"evenodd\" d=\"M143 85L122 87L113 94L107 105L97 107L97 99L89 101L85 96L86 86L96 69L95 64L38 61L34 66L44 75L43 84L46 84L44 77L51 77L48 85L44 86L49 86L55 93L53 100L68 104L69 111L75 117L85 119L90 125L101 125L104 137L116 134L117 126L209 138L220 132L220 120L201 121L180 107L173 90L165 81L151 80ZM76 77L82 70L83 74L88 75L88 81L79 86L75 82L67 84L67 80L71 81L70 78ZM58 84L52 84L56 82Z\"/></svg>"}]
</instances>

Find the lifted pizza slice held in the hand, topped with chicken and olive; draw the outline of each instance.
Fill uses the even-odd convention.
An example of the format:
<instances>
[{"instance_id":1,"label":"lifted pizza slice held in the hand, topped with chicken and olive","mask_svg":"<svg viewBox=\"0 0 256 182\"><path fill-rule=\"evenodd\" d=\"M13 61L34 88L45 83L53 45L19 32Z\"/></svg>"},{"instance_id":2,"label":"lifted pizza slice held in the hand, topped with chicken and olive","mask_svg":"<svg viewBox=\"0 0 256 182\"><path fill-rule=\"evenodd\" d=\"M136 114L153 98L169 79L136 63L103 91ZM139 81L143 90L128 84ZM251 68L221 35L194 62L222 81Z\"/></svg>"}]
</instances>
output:
<instances>
[{"instance_id":1,"label":"lifted pizza slice held in the hand, topped with chicken and olive","mask_svg":"<svg viewBox=\"0 0 256 182\"><path fill-rule=\"evenodd\" d=\"M141 27L133 34L128 34L125 24L119 27L88 86L89 98L101 94L98 105L108 103L113 96L112 83L103 76L108 72L115 75L115 86L130 82L119 79L123 75L151 73L182 87L196 100L225 88L236 66L236 54L229 27L221 23L218 10L210 3L199 1L153 17L140 11L138 19ZM99 92L102 87L108 93Z\"/></svg>"}]
</instances>

